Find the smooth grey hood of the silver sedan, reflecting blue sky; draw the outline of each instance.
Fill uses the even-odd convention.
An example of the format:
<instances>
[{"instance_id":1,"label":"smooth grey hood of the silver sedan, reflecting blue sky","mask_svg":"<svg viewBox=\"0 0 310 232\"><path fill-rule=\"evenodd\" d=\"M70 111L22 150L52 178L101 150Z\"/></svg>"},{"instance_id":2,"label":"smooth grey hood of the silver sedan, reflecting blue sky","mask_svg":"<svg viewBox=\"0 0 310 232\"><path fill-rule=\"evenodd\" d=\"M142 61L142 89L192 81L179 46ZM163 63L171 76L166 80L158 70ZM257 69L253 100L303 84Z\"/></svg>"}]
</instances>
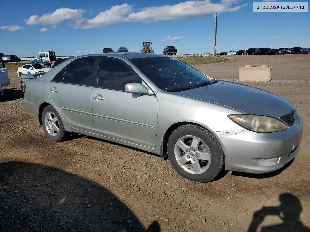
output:
<instances>
[{"instance_id":1,"label":"smooth grey hood of the silver sedan, reflecting blue sky","mask_svg":"<svg viewBox=\"0 0 310 232\"><path fill-rule=\"evenodd\" d=\"M274 118L294 110L288 100L275 93L227 81L218 81L215 84L176 94L225 105L246 114L260 114Z\"/></svg>"}]
</instances>

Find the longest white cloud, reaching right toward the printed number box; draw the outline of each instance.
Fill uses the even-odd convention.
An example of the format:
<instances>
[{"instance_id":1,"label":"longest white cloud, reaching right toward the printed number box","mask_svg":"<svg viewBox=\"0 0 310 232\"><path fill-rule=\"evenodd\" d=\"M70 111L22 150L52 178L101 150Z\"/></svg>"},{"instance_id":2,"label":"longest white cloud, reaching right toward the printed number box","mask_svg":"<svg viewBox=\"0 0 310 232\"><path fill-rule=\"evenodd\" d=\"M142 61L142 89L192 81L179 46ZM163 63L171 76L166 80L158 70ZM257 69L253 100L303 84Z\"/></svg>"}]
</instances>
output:
<instances>
[{"instance_id":1,"label":"longest white cloud, reaching right toward the printed number box","mask_svg":"<svg viewBox=\"0 0 310 232\"><path fill-rule=\"evenodd\" d=\"M226 3L227 2L227 3ZM194 18L207 14L223 13L228 11L237 11L242 6L248 5L248 3L230 7L230 4L236 1L228 1L225 3L211 3L210 0L205 1L188 1L181 2L176 5L165 5L165 6L152 6L143 9L140 12L131 13L126 18L128 22L155 22L155 21L166 21L172 19L186 19Z\"/></svg>"}]
</instances>

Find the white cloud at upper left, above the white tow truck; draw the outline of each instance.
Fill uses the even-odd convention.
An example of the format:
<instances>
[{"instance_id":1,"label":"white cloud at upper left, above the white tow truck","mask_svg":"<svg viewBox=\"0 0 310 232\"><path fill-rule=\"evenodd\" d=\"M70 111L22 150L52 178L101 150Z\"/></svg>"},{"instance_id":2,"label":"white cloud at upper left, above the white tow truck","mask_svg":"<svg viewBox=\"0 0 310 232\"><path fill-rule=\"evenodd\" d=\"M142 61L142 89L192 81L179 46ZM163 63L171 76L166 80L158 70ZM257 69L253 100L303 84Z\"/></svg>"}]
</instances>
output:
<instances>
[{"instance_id":1,"label":"white cloud at upper left, above the white tow truck","mask_svg":"<svg viewBox=\"0 0 310 232\"><path fill-rule=\"evenodd\" d=\"M58 24L66 19L76 19L81 18L85 11L82 9L70 9L70 8L60 8L53 13L46 13L40 18L38 15L32 15L29 19L25 19L27 25L34 24Z\"/></svg>"}]
</instances>

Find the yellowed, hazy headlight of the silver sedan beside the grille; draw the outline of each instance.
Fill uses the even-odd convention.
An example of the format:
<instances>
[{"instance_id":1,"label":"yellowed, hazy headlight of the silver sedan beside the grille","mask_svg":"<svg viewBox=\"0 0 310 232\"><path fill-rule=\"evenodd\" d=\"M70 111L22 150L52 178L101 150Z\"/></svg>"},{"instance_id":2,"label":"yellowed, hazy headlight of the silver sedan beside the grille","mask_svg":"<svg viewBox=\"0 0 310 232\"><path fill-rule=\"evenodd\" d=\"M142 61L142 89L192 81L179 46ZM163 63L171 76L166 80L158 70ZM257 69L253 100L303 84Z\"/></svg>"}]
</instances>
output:
<instances>
[{"instance_id":1,"label":"yellowed, hazy headlight of the silver sedan beside the grille","mask_svg":"<svg viewBox=\"0 0 310 232\"><path fill-rule=\"evenodd\" d=\"M228 115L233 122L250 131L259 133L270 133L284 131L288 127L276 118L251 114L230 114Z\"/></svg>"}]
</instances>

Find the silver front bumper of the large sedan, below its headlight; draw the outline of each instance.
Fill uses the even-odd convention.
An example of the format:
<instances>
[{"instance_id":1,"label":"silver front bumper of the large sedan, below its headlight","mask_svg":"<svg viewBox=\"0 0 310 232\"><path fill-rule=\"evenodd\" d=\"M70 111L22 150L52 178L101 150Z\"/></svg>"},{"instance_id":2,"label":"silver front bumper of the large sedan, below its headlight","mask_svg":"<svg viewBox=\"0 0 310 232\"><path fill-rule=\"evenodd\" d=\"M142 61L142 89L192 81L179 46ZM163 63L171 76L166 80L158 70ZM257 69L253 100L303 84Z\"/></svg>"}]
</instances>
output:
<instances>
[{"instance_id":1,"label":"silver front bumper of the large sedan, below its headlight","mask_svg":"<svg viewBox=\"0 0 310 232\"><path fill-rule=\"evenodd\" d=\"M303 135L303 121L295 113L294 124L285 131L256 133L245 129L238 134L214 133L223 147L227 170L268 173L281 169L297 155ZM258 166L253 161L253 158L274 157L281 158L277 164L270 166Z\"/></svg>"}]
</instances>

